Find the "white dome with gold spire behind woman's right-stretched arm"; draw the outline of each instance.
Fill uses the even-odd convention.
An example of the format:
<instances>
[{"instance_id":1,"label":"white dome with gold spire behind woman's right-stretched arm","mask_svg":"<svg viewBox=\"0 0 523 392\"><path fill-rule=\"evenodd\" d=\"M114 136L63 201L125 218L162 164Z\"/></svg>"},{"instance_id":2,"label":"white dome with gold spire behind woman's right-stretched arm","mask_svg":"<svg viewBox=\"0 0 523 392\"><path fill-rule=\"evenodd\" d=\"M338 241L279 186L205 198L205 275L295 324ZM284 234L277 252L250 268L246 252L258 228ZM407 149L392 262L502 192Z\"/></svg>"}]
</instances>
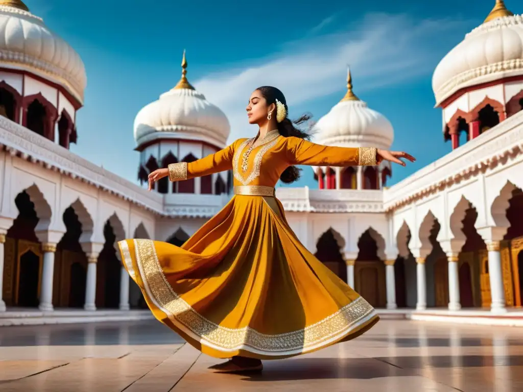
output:
<instances>
[{"instance_id":1,"label":"white dome with gold spire behind woman's right-stretched arm","mask_svg":"<svg viewBox=\"0 0 523 392\"><path fill-rule=\"evenodd\" d=\"M389 149L394 140L392 124L353 94L350 72L347 82L345 98L314 125L315 140L325 145Z\"/></svg>"}]
</instances>

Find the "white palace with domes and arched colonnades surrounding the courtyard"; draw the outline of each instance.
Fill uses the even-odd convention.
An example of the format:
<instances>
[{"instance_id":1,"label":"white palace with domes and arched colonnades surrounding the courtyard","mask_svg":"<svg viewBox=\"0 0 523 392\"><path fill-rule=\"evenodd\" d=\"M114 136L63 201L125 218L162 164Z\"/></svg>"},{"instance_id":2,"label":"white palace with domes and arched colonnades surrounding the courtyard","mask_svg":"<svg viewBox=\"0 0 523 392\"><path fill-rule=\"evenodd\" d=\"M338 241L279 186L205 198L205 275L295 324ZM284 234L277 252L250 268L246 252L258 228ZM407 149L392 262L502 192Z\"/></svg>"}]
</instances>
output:
<instances>
[{"instance_id":1,"label":"white palace with domes and arched colonnades surrounding the courtyard","mask_svg":"<svg viewBox=\"0 0 523 392\"><path fill-rule=\"evenodd\" d=\"M477 40L490 48L484 42L492 41L482 57L490 59L495 37L505 40L501 48L515 45L510 37L523 37L521 16L502 3L456 48ZM1 18L13 37L31 24L35 34L59 40L18 0L0 1ZM81 60L71 54L71 61L56 62L43 47L13 42L0 45L0 312L139 307L141 294L121 266L116 241L183 243L230 199L231 174L158 183L147 192L71 153L86 80ZM72 51L65 43L56 48ZM15 52L16 61L6 60ZM436 100L453 146L436 162L390 188L384 184L391 167L382 164L315 167L320 189L277 189L303 244L374 306L495 313L521 306L523 72L516 65L523 51L509 52L510 58L492 54L514 65L509 75L494 60L476 64L460 49L436 69ZM62 73L49 71L60 66ZM182 66L176 87L135 120L142 182L157 167L226 144L228 120L187 81L185 55ZM350 74L347 95L316 131L315 141L328 145L388 148L394 137L390 122L354 95ZM453 136L460 132L468 135L462 146Z\"/></svg>"}]
</instances>

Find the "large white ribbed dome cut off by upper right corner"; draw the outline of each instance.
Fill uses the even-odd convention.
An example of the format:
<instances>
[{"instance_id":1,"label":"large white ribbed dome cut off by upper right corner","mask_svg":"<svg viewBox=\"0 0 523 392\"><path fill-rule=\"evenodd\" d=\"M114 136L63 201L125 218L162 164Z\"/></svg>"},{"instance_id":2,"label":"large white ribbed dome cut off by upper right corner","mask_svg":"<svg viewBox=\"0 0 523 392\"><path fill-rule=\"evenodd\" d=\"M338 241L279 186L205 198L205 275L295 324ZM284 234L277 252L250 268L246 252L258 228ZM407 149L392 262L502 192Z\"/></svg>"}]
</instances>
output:
<instances>
[{"instance_id":1,"label":"large white ribbed dome cut off by upper right corner","mask_svg":"<svg viewBox=\"0 0 523 392\"><path fill-rule=\"evenodd\" d=\"M523 75L523 16L510 14L496 2L487 21L440 61L432 78L437 105L464 87Z\"/></svg>"}]
</instances>

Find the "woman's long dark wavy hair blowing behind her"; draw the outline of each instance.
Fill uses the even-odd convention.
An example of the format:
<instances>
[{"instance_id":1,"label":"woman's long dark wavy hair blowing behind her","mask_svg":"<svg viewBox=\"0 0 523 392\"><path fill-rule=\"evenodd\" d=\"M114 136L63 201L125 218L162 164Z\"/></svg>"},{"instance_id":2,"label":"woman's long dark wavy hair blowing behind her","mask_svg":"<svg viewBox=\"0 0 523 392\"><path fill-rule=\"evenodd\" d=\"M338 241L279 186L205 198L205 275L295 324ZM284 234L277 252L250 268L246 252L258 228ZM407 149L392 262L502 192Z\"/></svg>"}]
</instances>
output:
<instances>
[{"instance_id":1,"label":"woman's long dark wavy hair blowing behind her","mask_svg":"<svg viewBox=\"0 0 523 392\"><path fill-rule=\"evenodd\" d=\"M267 105L270 105L271 103L276 105L276 100L278 100L283 103L283 105L285 105L285 110L287 113L289 113L289 107L287 106L285 96L276 87L262 86L258 87L256 90L258 90L261 95L263 95L267 101ZM310 114L303 114L303 116L301 116L299 119L293 121L286 117L283 119L283 121L278 123L278 132L281 136L285 137L296 136L300 137L301 139L309 139L310 135L306 131L297 128L296 125L300 125L309 121L311 117L312 116ZM280 180L287 184L297 181L300 178L300 171L301 169L297 168L296 166L289 166L287 169L283 170L280 176Z\"/></svg>"}]
</instances>

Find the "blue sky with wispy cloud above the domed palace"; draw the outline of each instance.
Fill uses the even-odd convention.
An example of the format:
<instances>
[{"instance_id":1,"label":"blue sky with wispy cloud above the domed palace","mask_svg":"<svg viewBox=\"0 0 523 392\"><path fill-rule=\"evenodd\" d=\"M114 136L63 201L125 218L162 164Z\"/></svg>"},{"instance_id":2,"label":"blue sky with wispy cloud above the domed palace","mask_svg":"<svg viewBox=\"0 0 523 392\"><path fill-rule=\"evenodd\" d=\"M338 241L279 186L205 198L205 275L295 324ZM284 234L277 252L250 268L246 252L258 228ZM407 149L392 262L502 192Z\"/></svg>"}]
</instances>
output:
<instances>
[{"instance_id":1,"label":"blue sky with wispy cloud above the domed palace","mask_svg":"<svg viewBox=\"0 0 523 392\"><path fill-rule=\"evenodd\" d=\"M392 149L418 159L395 166L391 185L451 150L432 73L495 1L25 3L85 63L85 106L71 150L122 177L137 182L135 115L177 83L187 49L188 79L228 115L230 141L257 132L244 110L258 85L279 87L291 117L311 112L317 120L345 94L350 64L355 93L394 126ZM505 1L514 13L522 11L517 3ZM312 170L302 173L293 186L316 188Z\"/></svg>"}]
</instances>

